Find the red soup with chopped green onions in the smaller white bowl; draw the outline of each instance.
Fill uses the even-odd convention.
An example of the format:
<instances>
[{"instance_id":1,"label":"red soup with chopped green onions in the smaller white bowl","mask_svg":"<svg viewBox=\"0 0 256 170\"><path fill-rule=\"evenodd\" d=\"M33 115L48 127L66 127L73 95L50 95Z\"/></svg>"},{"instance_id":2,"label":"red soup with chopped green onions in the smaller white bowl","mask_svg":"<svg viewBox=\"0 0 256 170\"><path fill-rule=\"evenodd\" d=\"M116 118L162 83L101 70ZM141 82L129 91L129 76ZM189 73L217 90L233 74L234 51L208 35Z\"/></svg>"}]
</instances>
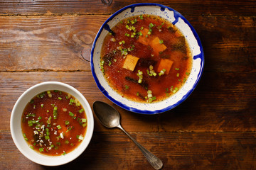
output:
<instances>
[{"instance_id":1,"label":"red soup with chopped green onions in the smaller white bowl","mask_svg":"<svg viewBox=\"0 0 256 170\"><path fill-rule=\"evenodd\" d=\"M31 149L50 156L65 155L85 137L85 110L64 91L45 91L27 104L21 129Z\"/></svg>"}]
</instances>

